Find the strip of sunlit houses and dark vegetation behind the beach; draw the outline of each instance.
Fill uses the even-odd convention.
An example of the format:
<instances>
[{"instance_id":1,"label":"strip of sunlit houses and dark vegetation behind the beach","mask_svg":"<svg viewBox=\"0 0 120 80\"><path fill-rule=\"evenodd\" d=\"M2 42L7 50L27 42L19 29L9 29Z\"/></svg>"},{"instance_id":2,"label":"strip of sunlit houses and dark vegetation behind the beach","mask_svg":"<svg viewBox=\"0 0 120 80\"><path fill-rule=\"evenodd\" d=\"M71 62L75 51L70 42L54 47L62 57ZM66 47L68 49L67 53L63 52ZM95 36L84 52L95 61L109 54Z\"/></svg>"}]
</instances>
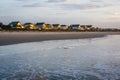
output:
<instances>
[{"instance_id":1,"label":"strip of sunlit houses and dark vegetation behind the beach","mask_svg":"<svg viewBox=\"0 0 120 80\"><path fill-rule=\"evenodd\" d=\"M61 25L61 24L46 24L44 22L25 23L22 24L20 21L14 21L8 25L4 25L0 22L0 31L120 31L120 29L113 28L98 28L93 25Z\"/></svg>"}]
</instances>

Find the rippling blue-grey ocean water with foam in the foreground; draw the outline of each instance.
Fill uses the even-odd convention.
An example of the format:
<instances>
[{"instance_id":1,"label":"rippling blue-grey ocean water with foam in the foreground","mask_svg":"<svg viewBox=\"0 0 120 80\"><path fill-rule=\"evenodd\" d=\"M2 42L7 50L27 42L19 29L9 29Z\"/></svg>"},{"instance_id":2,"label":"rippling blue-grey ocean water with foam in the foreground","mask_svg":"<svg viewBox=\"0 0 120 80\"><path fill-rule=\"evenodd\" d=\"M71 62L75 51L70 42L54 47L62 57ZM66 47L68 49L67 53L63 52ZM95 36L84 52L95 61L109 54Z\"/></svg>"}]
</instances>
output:
<instances>
[{"instance_id":1,"label":"rippling blue-grey ocean water with foam in the foreground","mask_svg":"<svg viewBox=\"0 0 120 80\"><path fill-rule=\"evenodd\" d=\"M0 80L120 80L120 35L0 46Z\"/></svg>"}]
</instances>

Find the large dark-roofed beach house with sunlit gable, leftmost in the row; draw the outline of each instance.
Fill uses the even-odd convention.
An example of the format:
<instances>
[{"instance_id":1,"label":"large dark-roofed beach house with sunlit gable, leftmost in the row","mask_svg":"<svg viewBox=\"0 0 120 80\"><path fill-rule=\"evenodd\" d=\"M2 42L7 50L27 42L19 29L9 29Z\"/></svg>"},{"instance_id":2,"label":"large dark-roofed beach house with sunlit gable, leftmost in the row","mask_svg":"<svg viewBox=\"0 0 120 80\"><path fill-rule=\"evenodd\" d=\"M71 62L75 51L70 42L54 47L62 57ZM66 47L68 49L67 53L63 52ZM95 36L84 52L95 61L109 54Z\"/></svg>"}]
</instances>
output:
<instances>
[{"instance_id":1,"label":"large dark-roofed beach house with sunlit gable, leftmost in the row","mask_svg":"<svg viewBox=\"0 0 120 80\"><path fill-rule=\"evenodd\" d=\"M25 27L21 24L20 21L14 21L8 24L10 29L24 29Z\"/></svg>"}]
</instances>

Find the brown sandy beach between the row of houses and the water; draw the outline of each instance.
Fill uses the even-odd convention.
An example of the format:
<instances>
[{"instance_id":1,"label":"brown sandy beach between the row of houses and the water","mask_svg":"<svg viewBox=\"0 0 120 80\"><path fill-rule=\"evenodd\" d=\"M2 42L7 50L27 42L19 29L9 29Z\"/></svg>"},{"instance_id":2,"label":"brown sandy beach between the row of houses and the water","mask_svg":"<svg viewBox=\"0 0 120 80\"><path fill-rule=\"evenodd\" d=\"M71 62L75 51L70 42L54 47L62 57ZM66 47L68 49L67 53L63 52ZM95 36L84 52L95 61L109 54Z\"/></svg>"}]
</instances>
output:
<instances>
[{"instance_id":1,"label":"brown sandy beach between the row of houses and the water","mask_svg":"<svg viewBox=\"0 0 120 80\"><path fill-rule=\"evenodd\" d=\"M0 46L47 40L97 38L119 34L120 32L0 32Z\"/></svg>"}]
</instances>

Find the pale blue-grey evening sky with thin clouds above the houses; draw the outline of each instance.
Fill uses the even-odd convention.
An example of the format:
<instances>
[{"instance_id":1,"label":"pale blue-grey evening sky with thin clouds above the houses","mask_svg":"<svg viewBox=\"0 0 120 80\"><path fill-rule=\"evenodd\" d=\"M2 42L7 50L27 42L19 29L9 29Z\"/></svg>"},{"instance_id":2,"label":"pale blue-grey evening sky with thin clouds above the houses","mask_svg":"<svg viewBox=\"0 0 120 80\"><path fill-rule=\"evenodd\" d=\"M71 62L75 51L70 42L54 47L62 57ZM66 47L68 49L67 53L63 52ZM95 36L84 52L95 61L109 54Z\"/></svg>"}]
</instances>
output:
<instances>
[{"instance_id":1,"label":"pale blue-grey evening sky with thin clouds above the houses","mask_svg":"<svg viewBox=\"0 0 120 80\"><path fill-rule=\"evenodd\" d=\"M120 28L120 0L1 0L0 22L11 21Z\"/></svg>"}]
</instances>

